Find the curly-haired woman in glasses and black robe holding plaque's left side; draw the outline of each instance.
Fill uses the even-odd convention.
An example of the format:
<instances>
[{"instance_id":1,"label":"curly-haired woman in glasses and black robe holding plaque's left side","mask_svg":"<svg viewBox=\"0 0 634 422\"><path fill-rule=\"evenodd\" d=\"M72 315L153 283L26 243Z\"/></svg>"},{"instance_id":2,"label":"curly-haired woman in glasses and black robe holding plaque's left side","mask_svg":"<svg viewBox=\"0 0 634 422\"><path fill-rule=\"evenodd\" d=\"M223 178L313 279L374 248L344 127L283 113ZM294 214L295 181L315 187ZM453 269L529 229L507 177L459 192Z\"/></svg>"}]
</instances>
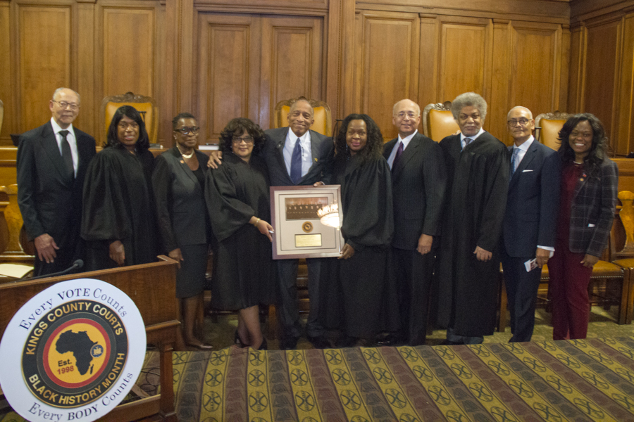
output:
<instances>
[{"instance_id":1,"label":"curly-haired woman in glasses and black robe holding plaque's left side","mask_svg":"<svg viewBox=\"0 0 634 422\"><path fill-rule=\"evenodd\" d=\"M266 350L259 321L259 304L273 295L269 179L258 156L262 129L242 117L220 133L223 165L211 169L205 199L211 229L218 240L217 268L211 305L238 311L237 343Z\"/></svg>"}]
</instances>

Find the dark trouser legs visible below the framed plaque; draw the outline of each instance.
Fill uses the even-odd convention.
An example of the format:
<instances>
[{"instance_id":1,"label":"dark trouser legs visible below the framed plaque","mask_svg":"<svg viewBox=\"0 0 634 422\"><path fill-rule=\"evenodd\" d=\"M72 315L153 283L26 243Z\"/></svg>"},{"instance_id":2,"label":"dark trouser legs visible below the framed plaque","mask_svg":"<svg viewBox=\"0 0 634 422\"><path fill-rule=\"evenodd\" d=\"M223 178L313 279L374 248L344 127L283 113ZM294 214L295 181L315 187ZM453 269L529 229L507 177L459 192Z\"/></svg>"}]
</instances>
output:
<instances>
[{"instance_id":1,"label":"dark trouser legs visible below the framed plaque","mask_svg":"<svg viewBox=\"0 0 634 422\"><path fill-rule=\"evenodd\" d=\"M282 335L299 338L301 327L299 326L299 303L297 300L297 260L278 260L278 283L280 293L280 306L278 317L282 326ZM321 258L307 258L308 290L310 309L306 322L306 335L318 337L323 335L324 329L319 316L319 277L321 272Z\"/></svg>"}]
</instances>

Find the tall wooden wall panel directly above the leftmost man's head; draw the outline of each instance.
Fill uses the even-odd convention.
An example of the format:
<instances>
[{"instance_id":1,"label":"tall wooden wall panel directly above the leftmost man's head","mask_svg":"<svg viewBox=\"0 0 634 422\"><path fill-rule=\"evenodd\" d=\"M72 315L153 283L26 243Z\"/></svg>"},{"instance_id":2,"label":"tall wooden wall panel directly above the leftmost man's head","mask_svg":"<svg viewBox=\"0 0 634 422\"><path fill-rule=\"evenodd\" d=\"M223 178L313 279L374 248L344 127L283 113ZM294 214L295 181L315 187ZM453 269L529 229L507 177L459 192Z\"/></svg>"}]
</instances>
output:
<instances>
[{"instance_id":1,"label":"tall wooden wall panel directly above the leftmost man's head","mask_svg":"<svg viewBox=\"0 0 634 422\"><path fill-rule=\"evenodd\" d=\"M58 87L71 86L72 4L16 3L13 8L15 65L20 113L18 132L51 118L49 99ZM14 73L15 75L15 73Z\"/></svg>"}]
</instances>

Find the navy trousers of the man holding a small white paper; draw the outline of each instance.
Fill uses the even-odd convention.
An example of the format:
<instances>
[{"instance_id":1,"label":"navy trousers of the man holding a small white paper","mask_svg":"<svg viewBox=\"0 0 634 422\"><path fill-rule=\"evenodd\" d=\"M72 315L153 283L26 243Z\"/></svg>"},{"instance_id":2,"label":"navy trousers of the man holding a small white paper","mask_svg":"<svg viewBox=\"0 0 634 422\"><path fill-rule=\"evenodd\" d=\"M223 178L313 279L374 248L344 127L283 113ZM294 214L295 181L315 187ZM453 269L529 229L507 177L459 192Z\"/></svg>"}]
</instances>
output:
<instances>
[{"instance_id":1,"label":"navy trousers of the man holding a small white paper","mask_svg":"<svg viewBox=\"0 0 634 422\"><path fill-rule=\"evenodd\" d=\"M533 257L509 257L502 249L502 268L506 296L509 298L511 312L511 343L530 341L535 328L535 306L537 305L537 289L540 287L542 269L537 267L526 271L524 262Z\"/></svg>"}]
</instances>

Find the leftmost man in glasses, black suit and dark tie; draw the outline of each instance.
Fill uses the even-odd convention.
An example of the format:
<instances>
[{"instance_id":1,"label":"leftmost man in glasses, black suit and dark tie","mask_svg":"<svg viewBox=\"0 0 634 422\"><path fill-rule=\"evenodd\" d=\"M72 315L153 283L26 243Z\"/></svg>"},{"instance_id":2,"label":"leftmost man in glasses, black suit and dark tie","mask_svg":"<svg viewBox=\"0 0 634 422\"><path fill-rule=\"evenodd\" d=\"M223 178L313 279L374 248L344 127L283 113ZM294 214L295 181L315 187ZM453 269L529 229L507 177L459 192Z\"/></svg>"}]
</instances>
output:
<instances>
[{"instance_id":1,"label":"leftmost man in glasses, black suit and dark tie","mask_svg":"<svg viewBox=\"0 0 634 422\"><path fill-rule=\"evenodd\" d=\"M94 138L73 127L80 96L59 88L49 103L51 121L20 136L18 204L35 242L35 275L62 271L80 257L82 188Z\"/></svg>"}]
</instances>

